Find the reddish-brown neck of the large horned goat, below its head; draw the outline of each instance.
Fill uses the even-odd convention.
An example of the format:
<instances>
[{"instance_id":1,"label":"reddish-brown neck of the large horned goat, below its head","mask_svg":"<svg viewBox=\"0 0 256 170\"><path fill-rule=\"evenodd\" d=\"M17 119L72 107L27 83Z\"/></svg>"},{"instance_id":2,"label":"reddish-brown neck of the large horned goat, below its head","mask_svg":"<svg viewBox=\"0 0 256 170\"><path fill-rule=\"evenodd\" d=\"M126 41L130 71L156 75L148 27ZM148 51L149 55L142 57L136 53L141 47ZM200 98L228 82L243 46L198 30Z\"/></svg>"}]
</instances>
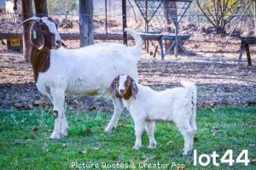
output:
<instances>
[{"instance_id":1,"label":"reddish-brown neck of the large horned goat, below its head","mask_svg":"<svg viewBox=\"0 0 256 170\"><path fill-rule=\"evenodd\" d=\"M32 47L31 63L33 77L35 82L38 82L39 72L45 72L49 69L49 48L38 49Z\"/></svg>"}]
</instances>

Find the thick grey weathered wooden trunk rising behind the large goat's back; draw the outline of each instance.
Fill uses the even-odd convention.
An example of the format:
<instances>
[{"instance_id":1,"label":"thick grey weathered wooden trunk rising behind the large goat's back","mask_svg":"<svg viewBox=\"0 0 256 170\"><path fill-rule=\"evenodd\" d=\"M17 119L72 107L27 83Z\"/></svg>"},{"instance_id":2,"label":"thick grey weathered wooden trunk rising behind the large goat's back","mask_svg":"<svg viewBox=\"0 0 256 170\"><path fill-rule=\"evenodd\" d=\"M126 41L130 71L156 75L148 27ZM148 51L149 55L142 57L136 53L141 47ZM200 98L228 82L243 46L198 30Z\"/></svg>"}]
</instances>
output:
<instances>
[{"instance_id":1,"label":"thick grey weathered wooden trunk rising behind the large goat's back","mask_svg":"<svg viewBox=\"0 0 256 170\"><path fill-rule=\"evenodd\" d=\"M93 3L92 0L79 0L80 47L92 45L93 41Z\"/></svg>"}]
</instances>

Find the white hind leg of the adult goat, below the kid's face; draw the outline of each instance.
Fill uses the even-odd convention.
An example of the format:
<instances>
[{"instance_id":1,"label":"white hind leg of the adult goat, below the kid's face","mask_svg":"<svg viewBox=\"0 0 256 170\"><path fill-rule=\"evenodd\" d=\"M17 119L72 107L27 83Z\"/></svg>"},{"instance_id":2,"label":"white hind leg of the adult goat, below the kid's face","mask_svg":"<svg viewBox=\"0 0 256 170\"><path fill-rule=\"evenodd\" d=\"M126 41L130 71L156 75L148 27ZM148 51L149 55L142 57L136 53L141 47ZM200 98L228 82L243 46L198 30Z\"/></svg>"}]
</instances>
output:
<instances>
[{"instance_id":1,"label":"white hind leg of the adult goat, below the kid's face","mask_svg":"<svg viewBox=\"0 0 256 170\"><path fill-rule=\"evenodd\" d=\"M113 101L113 116L111 118L111 121L108 123L108 127L105 128L105 131L107 133L109 133L110 131L112 131L118 124L119 122L119 117L122 113L122 111L124 111L124 105L122 103L122 100L117 98L117 97L113 97L112 98Z\"/></svg>"}]
</instances>

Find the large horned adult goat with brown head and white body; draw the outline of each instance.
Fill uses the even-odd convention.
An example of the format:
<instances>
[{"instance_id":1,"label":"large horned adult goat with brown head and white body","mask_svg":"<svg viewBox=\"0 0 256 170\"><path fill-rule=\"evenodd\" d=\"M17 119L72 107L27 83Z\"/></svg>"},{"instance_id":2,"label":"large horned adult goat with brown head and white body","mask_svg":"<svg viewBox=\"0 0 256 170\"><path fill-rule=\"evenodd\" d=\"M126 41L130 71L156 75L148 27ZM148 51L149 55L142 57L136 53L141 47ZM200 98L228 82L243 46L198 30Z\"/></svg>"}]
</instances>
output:
<instances>
[{"instance_id":1,"label":"large horned adult goat with brown head and white body","mask_svg":"<svg viewBox=\"0 0 256 170\"><path fill-rule=\"evenodd\" d=\"M50 138L60 139L67 135L65 94L102 95L112 99L113 116L105 129L110 132L117 126L124 106L119 96L111 95L109 84L121 73L131 74L137 81L137 61L143 46L141 37L126 28L125 31L136 40L135 47L102 43L66 49L61 48L61 37L53 20L33 17L20 26L29 21L35 21L31 28L33 77L39 92L48 96L54 105L55 127Z\"/></svg>"}]
</instances>

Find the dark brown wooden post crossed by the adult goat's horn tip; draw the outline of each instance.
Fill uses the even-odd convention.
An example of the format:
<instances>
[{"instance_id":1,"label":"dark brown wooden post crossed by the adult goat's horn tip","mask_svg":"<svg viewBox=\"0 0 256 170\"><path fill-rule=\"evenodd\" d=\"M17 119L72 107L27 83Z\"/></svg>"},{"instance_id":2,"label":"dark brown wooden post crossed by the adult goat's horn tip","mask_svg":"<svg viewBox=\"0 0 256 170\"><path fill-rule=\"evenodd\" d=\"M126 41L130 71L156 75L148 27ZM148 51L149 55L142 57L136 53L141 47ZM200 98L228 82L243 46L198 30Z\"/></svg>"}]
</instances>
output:
<instances>
[{"instance_id":1,"label":"dark brown wooden post crossed by the adult goat's horn tip","mask_svg":"<svg viewBox=\"0 0 256 170\"><path fill-rule=\"evenodd\" d=\"M22 20L32 17L32 0L21 0ZM26 62L30 62L32 45L30 43L30 27L31 22L23 24L22 40L23 40L23 56Z\"/></svg>"}]
</instances>

